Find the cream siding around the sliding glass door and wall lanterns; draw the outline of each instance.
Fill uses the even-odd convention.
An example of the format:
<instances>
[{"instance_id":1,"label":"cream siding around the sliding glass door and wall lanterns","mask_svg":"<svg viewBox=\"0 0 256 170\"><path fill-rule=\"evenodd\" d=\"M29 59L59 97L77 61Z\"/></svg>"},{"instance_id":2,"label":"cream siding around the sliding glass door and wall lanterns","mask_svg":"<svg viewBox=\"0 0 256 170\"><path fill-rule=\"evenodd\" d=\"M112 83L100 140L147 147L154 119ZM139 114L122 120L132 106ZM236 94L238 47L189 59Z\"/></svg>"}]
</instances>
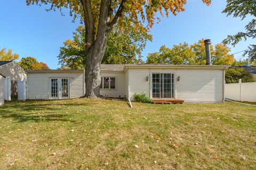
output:
<instances>
[{"instance_id":1,"label":"cream siding around the sliding glass door and wall lanterns","mask_svg":"<svg viewBox=\"0 0 256 170\"><path fill-rule=\"evenodd\" d=\"M129 69L130 98L135 93L151 97L151 74L154 72L174 74L174 98L185 102L222 102L223 69ZM150 80L146 80L149 76ZM177 77L180 80L177 81Z\"/></svg>"}]
</instances>

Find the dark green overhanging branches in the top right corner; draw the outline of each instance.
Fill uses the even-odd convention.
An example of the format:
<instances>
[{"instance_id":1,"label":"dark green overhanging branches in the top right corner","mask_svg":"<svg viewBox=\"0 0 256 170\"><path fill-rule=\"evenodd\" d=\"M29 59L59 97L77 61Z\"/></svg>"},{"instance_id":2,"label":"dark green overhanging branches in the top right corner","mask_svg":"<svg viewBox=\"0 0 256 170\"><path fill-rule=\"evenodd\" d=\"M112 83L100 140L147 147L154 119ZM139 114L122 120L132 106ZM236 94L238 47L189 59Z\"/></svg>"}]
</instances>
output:
<instances>
[{"instance_id":1,"label":"dark green overhanging branches in the top right corner","mask_svg":"<svg viewBox=\"0 0 256 170\"><path fill-rule=\"evenodd\" d=\"M252 16L253 19L245 26L245 32L238 32L235 35L228 35L223 41L224 44L237 45L242 39L246 41L247 38L256 38L256 1L255 0L227 0L226 9L223 13L227 16L241 18L244 20L247 15ZM245 50L244 56L248 55L253 61L256 60L256 44L251 44L248 50Z\"/></svg>"}]
</instances>

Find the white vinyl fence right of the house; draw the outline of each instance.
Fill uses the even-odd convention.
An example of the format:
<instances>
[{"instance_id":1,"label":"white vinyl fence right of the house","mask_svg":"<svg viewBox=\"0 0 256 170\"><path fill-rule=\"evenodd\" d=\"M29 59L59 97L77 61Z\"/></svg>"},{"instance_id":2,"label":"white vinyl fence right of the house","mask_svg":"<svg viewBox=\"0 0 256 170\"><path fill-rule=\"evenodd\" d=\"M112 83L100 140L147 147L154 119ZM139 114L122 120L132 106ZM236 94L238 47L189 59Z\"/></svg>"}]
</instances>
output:
<instances>
[{"instance_id":1,"label":"white vinyl fence right of the house","mask_svg":"<svg viewBox=\"0 0 256 170\"><path fill-rule=\"evenodd\" d=\"M225 98L236 101L256 102L256 82L226 84Z\"/></svg>"}]
</instances>

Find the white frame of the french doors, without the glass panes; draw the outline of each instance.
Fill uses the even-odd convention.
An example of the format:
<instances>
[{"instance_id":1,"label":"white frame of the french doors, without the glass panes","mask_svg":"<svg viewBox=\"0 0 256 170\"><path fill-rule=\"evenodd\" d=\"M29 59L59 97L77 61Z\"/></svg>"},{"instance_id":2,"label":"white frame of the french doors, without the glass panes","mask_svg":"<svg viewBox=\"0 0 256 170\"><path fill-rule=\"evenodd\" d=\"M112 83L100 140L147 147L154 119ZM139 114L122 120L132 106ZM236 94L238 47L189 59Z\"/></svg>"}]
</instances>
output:
<instances>
[{"instance_id":1,"label":"white frame of the french doors, without the glass panes","mask_svg":"<svg viewBox=\"0 0 256 170\"><path fill-rule=\"evenodd\" d=\"M58 87L58 96L52 97L52 79L57 79ZM68 96L62 97L62 79L68 79ZM49 77L49 99L70 99L70 78L68 77Z\"/></svg>"}]
</instances>

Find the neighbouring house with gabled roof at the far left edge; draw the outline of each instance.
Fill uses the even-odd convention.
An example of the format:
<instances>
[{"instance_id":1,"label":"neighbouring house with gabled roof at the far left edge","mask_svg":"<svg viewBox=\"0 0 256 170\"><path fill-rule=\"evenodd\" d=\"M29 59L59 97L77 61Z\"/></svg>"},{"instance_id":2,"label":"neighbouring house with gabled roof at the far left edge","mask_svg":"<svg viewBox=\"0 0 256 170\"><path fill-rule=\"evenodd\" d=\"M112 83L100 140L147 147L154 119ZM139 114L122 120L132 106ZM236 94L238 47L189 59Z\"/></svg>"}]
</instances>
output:
<instances>
[{"instance_id":1,"label":"neighbouring house with gabled roof at the far left edge","mask_svg":"<svg viewBox=\"0 0 256 170\"><path fill-rule=\"evenodd\" d=\"M11 78L11 97L17 98L17 81L27 77L26 72L14 61L0 61L0 74Z\"/></svg>"}]
</instances>

